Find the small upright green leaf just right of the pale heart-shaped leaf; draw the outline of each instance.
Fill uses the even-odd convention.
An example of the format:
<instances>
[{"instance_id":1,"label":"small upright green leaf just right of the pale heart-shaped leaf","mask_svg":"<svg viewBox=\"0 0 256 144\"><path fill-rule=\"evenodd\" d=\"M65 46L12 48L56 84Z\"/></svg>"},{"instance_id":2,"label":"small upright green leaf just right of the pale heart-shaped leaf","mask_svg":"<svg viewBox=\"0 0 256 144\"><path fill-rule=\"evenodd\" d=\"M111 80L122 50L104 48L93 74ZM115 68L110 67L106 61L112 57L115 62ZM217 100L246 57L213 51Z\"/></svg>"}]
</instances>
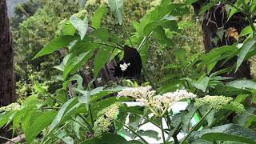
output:
<instances>
[{"instance_id":1,"label":"small upright green leaf just right of the pale heart-shaped leaf","mask_svg":"<svg viewBox=\"0 0 256 144\"><path fill-rule=\"evenodd\" d=\"M107 12L106 6L100 6L98 9L94 12L94 16L91 19L91 26L93 26L95 29L98 29L101 26L102 17Z\"/></svg>"}]
</instances>

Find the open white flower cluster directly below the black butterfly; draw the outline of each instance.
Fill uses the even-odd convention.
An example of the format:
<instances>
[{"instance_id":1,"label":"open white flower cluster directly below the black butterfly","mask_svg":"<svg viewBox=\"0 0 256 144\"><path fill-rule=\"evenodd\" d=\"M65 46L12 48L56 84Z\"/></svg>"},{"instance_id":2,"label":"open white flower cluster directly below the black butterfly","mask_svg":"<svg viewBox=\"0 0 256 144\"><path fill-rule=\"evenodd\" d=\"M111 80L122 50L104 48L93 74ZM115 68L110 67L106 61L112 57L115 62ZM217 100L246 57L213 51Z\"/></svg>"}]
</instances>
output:
<instances>
[{"instance_id":1,"label":"open white flower cluster directly below the black butterfly","mask_svg":"<svg viewBox=\"0 0 256 144\"><path fill-rule=\"evenodd\" d=\"M130 96L137 101L142 102L144 106L158 116L166 113L166 110L175 102L186 98L195 98L196 95L187 92L186 90L176 90L174 92L156 95L155 91L151 90L150 86L140 86L135 88L126 88L118 93L118 97Z\"/></svg>"}]
</instances>

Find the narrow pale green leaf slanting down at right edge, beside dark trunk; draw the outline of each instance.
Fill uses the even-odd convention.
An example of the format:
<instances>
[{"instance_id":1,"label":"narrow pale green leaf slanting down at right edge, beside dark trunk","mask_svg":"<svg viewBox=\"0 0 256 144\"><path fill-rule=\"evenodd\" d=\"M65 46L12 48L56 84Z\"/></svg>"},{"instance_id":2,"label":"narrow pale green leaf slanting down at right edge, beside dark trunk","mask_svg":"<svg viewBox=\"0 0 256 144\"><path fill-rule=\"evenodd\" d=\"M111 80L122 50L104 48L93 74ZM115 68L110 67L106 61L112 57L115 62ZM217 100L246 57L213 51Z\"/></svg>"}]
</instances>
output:
<instances>
[{"instance_id":1,"label":"narrow pale green leaf slanting down at right edge, beside dark trunk","mask_svg":"<svg viewBox=\"0 0 256 144\"><path fill-rule=\"evenodd\" d=\"M242 50L238 54L237 67L236 67L235 71L237 71L238 68L241 66L242 62L246 58L246 54L248 54L248 52L253 48L255 43L256 43L256 41L253 38L251 38L251 39L247 40L246 42L244 42L244 44L242 46Z\"/></svg>"}]
</instances>

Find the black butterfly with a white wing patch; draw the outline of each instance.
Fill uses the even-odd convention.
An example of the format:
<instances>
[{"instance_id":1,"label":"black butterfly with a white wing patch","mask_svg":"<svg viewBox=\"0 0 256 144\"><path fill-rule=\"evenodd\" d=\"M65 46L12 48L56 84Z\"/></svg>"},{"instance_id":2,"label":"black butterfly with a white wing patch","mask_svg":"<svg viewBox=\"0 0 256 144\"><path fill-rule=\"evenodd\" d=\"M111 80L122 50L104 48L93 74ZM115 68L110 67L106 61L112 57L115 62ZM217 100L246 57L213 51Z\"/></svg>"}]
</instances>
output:
<instances>
[{"instance_id":1,"label":"black butterfly with a white wing patch","mask_svg":"<svg viewBox=\"0 0 256 144\"><path fill-rule=\"evenodd\" d=\"M124 57L117 66L114 66L113 76L118 78L135 78L139 79L142 72L142 58L138 50L124 46Z\"/></svg>"}]
</instances>

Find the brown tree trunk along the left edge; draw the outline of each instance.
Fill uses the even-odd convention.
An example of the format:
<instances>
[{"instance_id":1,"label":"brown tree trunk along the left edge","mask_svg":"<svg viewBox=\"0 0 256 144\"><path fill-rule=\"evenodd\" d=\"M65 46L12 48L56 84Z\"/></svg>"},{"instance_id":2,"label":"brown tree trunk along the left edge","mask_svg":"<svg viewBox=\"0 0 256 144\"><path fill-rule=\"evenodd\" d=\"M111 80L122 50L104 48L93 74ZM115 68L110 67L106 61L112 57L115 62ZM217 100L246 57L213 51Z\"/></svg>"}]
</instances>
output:
<instances>
[{"instance_id":1,"label":"brown tree trunk along the left edge","mask_svg":"<svg viewBox=\"0 0 256 144\"><path fill-rule=\"evenodd\" d=\"M14 54L12 37L7 17L6 0L0 0L0 106L9 105L15 101L14 89ZM11 137L10 130L0 129L2 137ZM3 139L0 139L0 143Z\"/></svg>"}]
</instances>

